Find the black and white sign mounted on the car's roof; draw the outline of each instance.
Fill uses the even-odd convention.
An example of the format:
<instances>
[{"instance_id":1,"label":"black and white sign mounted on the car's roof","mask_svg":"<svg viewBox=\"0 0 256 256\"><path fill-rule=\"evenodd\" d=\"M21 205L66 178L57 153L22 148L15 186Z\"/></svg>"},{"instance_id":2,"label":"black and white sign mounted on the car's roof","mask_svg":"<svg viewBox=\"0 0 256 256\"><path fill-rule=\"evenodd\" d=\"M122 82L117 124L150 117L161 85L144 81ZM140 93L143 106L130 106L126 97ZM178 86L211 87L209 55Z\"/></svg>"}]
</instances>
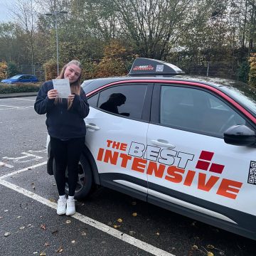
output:
<instances>
[{"instance_id":1,"label":"black and white sign mounted on the car's roof","mask_svg":"<svg viewBox=\"0 0 256 256\"><path fill-rule=\"evenodd\" d=\"M183 70L171 63L150 58L136 58L129 71L129 76L133 75L181 75Z\"/></svg>"}]
</instances>

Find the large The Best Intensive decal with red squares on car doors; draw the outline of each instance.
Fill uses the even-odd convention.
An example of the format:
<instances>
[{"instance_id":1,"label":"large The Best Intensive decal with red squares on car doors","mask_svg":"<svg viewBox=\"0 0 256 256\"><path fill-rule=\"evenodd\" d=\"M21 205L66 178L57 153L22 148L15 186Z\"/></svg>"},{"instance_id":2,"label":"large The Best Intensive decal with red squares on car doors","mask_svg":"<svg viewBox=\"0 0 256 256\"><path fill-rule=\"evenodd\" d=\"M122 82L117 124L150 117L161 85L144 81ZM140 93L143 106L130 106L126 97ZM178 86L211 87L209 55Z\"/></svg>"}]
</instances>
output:
<instances>
[{"instance_id":1,"label":"large The Best Intensive decal with red squares on car doors","mask_svg":"<svg viewBox=\"0 0 256 256\"><path fill-rule=\"evenodd\" d=\"M108 139L106 148L98 150L97 161L115 166L119 164L121 168L164 178L166 181L181 183L183 186L191 186L193 182L196 182L196 188L201 191L212 192L235 200L242 188L242 182L222 178L221 174L225 166L211 163L213 155L213 152L201 151L195 170L191 170L186 166L189 161L193 161L193 154L173 149L161 149L157 146L146 146L137 142L131 142L128 145ZM209 172L206 174L208 169Z\"/></svg>"}]
</instances>

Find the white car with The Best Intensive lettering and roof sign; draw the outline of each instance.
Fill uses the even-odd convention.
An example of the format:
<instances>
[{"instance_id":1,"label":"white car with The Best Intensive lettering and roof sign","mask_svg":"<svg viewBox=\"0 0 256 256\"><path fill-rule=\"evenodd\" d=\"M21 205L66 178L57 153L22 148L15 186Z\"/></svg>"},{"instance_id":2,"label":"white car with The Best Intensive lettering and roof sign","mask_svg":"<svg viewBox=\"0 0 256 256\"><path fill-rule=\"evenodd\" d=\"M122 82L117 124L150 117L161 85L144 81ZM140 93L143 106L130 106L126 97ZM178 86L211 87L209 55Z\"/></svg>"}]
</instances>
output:
<instances>
[{"instance_id":1,"label":"white car with The Best Intensive lettering and roof sign","mask_svg":"<svg viewBox=\"0 0 256 256\"><path fill-rule=\"evenodd\" d=\"M105 186L256 240L255 89L147 58L82 87L90 114L75 198Z\"/></svg>"}]
</instances>

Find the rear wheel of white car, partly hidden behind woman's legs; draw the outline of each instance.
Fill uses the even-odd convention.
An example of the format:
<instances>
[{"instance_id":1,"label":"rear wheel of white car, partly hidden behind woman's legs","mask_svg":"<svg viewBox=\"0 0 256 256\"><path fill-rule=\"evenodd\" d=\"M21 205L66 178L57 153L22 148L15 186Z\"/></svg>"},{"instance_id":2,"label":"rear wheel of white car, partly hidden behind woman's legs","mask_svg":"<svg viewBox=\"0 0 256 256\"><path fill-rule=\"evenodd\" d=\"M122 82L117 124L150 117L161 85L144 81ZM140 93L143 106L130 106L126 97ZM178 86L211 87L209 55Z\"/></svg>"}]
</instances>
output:
<instances>
[{"instance_id":1,"label":"rear wheel of white car, partly hidden behind woman's legs","mask_svg":"<svg viewBox=\"0 0 256 256\"><path fill-rule=\"evenodd\" d=\"M55 177L56 165L53 159L53 174ZM85 198L92 189L92 169L84 155L78 163L78 181L75 188L75 199ZM68 169L65 170L65 194L68 195Z\"/></svg>"}]
</instances>

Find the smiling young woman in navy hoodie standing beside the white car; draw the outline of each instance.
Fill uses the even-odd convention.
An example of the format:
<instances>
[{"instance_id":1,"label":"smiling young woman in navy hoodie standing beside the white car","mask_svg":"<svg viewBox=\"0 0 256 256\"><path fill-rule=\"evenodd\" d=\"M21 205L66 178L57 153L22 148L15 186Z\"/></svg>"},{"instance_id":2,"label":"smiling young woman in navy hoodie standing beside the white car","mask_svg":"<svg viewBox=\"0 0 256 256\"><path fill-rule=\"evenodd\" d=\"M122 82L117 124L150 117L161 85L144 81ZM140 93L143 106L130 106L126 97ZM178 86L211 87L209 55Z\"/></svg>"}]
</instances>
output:
<instances>
[{"instance_id":1,"label":"smiling young woman in navy hoodie standing beside the white car","mask_svg":"<svg viewBox=\"0 0 256 256\"><path fill-rule=\"evenodd\" d=\"M85 143L86 127L84 118L89 113L85 92L80 87L81 64L71 60L63 67L59 79L70 82L71 94L68 99L60 99L53 82L47 81L38 92L34 109L38 114L46 114L46 126L50 135L50 147L56 163L58 215L75 213L75 187L78 180L78 162ZM58 79L57 78L57 79ZM65 197L65 170L68 167L68 200Z\"/></svg>"}]
</instances>

